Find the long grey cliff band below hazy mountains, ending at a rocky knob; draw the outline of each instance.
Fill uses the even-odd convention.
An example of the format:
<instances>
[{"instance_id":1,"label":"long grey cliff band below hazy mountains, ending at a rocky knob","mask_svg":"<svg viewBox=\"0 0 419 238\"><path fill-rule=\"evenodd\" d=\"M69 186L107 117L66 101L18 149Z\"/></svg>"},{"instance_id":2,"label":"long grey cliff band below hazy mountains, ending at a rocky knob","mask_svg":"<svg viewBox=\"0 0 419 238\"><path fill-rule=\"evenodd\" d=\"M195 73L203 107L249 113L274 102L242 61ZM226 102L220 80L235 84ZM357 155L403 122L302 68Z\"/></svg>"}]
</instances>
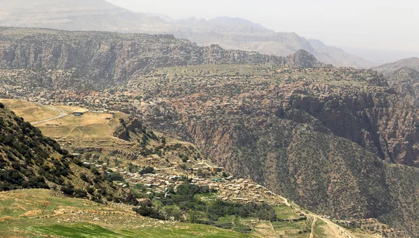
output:
<instances>
[{"instance_id":1,"label":"long grey cliff band below hazy mountains, ending at a rocky knob","mask_svg":"<svg viewBox=\"0 0 419 238\"><path fill-rule=\"evenodd\" d=\"M324 66L314 57L292 58L297 61L290 61L291 66ZM53 89L105 89L158 67L264 63L288 61L218 45L198 47L170 35L0 28L0 67L69 71L68 78L50 76L56 81L46 86Z\"/></svg>"}]
</instances>

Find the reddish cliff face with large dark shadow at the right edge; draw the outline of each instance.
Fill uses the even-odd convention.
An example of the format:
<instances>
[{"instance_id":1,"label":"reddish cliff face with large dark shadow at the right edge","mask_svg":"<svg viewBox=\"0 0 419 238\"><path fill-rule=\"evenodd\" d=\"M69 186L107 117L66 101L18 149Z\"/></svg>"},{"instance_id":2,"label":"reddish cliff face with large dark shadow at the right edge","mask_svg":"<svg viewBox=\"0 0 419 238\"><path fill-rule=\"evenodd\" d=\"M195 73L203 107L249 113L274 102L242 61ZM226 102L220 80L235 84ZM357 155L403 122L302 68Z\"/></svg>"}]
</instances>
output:
<instances>
[{"instance_id":1,"label":"reddish cliff face with large dark shadow at the right edge","mask_svg":"<svg viewBox=\"0 0 419 238\"><path fill-rule=\"evenodd\" d=\"M418 110L395 92L378 90L321 97L294 94L288 109L302 110L335 135L387 161L417 167Z\"/></svg>"}]
</instances>

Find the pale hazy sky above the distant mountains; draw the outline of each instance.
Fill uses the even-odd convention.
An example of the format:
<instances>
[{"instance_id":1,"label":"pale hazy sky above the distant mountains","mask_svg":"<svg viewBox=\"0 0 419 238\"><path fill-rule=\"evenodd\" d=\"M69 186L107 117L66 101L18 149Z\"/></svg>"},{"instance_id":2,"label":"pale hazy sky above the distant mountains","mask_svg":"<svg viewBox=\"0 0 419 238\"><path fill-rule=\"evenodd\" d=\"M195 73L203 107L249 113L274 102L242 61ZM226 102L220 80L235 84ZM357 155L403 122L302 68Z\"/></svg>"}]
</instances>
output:
<instances>
[{"instance_id":1,"label":"pale hazy sky above the distant mountains","mask_svg":"<svg viewBox=\"0 0 419 238\"><path fill-rule=\"evenodd\" d=\"M419 52L418 0L108 0L174 18L242 17L328 45Z\"/></svg>"}]
</instances>

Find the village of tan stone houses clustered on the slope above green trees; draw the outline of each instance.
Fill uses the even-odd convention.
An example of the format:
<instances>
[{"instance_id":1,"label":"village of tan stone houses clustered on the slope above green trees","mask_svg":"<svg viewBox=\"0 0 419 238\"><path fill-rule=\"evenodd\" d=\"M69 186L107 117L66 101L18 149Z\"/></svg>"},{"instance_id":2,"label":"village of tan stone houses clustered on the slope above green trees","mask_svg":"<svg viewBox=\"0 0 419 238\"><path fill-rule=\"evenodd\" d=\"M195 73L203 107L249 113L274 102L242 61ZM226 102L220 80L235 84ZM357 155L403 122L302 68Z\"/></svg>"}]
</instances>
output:
<instances>
[{"instance_id":1,"label":"village of tan stone houses clustered on the slope above green trees","mask_svg":"<svg viewBox=\"0 0 419 238\"><path fill-rule=\"evenodd\" d=\"M94 165L94 163L87 161L83 161L83 163L85 165ZM95 166L99 169L103 168L102 165ZM279 195L272 193L264 186L256 184L251 179L235 178L233 176L222 177L223 168L203 162L197 163L195 167L199 167L199 170L203 171L203 176L193 172L189 174L176 168L156 169L155 173L140 174L138 172L128 172L124 168L108 167L106 172L110 174L110 169L112 172L117 172L124 177L125 182L115 181L117 186L126 188L139 184L145 187L148 195L166 195L169 188L173 188L176 191L179 185L184 184L184 178L186 177L190 181L189 184L207 186L211 190L217 191L216 198L220 200L240 203L270 202L273 204L284 204L284 200ZM219 176L207 176L207 174L212 174L213 172L216 172Z\"/></svg>"}]
</instances>

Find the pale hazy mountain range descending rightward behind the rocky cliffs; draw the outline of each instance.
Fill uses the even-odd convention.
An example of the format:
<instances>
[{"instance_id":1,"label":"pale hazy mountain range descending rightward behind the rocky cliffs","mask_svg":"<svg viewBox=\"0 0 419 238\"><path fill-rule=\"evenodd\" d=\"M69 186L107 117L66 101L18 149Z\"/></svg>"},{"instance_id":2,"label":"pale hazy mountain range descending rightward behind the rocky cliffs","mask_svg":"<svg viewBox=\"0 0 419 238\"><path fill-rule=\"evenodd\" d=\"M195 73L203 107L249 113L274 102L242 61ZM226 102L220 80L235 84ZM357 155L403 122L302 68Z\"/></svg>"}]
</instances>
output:
<instances>
[{"instance_id":1,"label":"pale hazy mountain range descending rightward behind the rocky cliffs","mask_svg":"<svg viewBox=\"0 0 419 238\"><path fill-rule=\"evenodd\" d=\"M0 25L70 31L173 34L200 46L218 44L226 49L251 50L277 56L305 50L325 64L355 68L375 66L337 47L325 45L320 40L307 40L290 32L274 32L238 17L173 20L165 15L135 13L105 0L0 0Z\"/></svg>"}]
</instances>

